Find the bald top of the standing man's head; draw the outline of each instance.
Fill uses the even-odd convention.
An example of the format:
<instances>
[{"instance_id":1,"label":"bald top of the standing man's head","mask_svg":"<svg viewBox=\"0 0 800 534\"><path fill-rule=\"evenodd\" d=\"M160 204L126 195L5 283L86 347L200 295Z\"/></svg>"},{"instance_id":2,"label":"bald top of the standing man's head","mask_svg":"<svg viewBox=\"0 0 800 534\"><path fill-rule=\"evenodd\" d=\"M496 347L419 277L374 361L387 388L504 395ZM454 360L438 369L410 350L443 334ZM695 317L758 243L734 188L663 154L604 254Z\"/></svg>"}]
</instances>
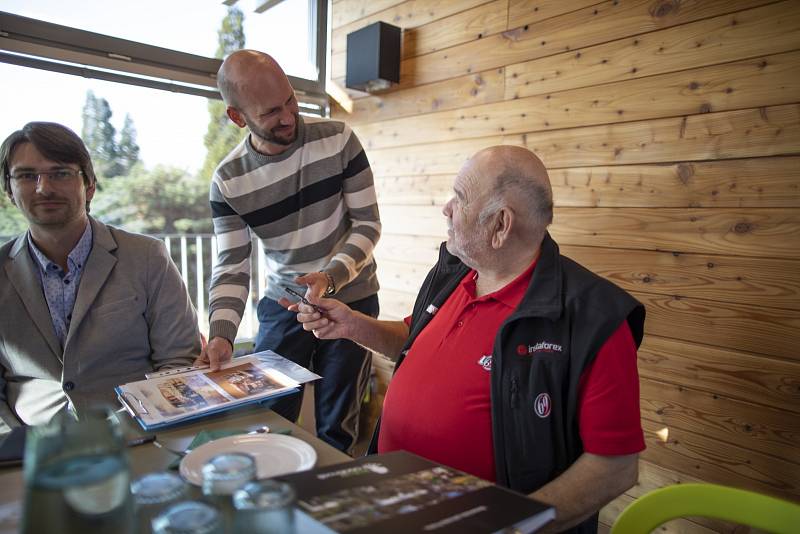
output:
<instances>
[{"instance_id":1,"label":"bald top of the standing man's head","mask_svg":"<svg viewBox=\"0 0 800 534\"><path fill-rule=\"evenodd\" d=\"M262 91L283 93L291 85L281 66L269 54L237 50L220 65L217 87L228 106L241 108Z\"/></svg>"}]
</instances>

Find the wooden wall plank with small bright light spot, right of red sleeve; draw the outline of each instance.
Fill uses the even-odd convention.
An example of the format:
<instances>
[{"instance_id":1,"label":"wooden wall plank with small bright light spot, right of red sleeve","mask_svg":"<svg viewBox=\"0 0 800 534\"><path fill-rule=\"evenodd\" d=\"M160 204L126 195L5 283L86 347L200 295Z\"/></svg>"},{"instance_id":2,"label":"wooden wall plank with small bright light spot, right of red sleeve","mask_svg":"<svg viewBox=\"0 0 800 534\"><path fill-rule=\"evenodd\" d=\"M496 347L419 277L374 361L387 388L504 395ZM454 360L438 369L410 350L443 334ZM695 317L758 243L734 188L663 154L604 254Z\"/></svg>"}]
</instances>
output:
<instances>
[{"instance_id":1,"label":"wooden wall plank with small bright light spot, right of red sleeve","mask_svg":"<svg viewBox=\"0 0 800 534\"><path fill-rule=\"evenodd\" d=\"M669 436L664 442L656 432L667 427L647 419L642 419L642 428L647 449L641 456L649 462L706 482L794 501L800 497L797 464L676 427L668 428Z\"/></svg>"}]
</instances>

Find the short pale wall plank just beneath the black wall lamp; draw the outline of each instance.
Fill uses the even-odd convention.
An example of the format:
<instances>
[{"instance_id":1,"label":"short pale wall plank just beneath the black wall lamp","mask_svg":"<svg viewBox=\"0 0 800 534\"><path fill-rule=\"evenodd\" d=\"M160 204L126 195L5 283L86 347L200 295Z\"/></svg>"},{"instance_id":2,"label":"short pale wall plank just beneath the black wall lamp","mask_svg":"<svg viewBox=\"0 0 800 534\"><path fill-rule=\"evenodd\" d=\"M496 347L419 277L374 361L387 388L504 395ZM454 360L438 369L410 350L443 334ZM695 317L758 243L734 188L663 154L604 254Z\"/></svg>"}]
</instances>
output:
<instances>
[{"instance_id":1,"label":"short pale wall plank just beneath the black wall lamp","mask_svg":"<svg viewBox=\"0 0 800 534\"><path fill-rule=\"evenodd\" d=\"M353 102L352 113L338 113L334 117L356 125L499 102L503 100L504 83L502 68L488 70L414 89L360 98Z\"/></svg>"}]
</instances>

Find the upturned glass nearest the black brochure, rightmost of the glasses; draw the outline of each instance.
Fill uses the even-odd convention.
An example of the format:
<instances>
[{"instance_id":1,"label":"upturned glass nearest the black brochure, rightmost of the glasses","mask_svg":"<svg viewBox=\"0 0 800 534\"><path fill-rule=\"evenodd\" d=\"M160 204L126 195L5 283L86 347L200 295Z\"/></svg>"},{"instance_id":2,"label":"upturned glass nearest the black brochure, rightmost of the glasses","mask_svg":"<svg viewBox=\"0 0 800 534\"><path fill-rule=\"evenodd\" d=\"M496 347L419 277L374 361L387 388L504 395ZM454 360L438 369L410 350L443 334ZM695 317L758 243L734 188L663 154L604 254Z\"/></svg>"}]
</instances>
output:
<instances>
[{"instance_id":1,"label":"upturned glass nearest the black brochure, rightmost of the glasses","mask_svg":"<svg viewBox=\"0 0 800 534\"><path fill-rule=\"evenodd\" d=\"M295 532L294 503L294 489L285 482L250 482L233 495L236 510L233 532L292 534Z\"/></svg>"}]
</instances>

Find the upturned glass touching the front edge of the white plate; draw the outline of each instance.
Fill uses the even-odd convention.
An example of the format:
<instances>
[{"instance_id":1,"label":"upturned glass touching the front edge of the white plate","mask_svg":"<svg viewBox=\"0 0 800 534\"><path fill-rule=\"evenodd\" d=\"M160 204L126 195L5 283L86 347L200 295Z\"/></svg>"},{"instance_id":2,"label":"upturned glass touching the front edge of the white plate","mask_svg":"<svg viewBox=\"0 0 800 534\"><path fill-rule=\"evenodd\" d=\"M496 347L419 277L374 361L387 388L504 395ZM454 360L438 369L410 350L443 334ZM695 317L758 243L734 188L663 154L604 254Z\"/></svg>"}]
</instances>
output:
<instances>
[{"instance_id":1,"label":"upturned glass touching the front edge of the white plate","mask_svg":"<svg viewBox=\"0 0 800 534\"><path fill-rule=\"evenodd\" d=\"M233 525L233 494L255 479L255 459L239 452L218 454L206 462L202 474L203 500L219 509L229 531Z\"/></svg>"}]
</instances>

